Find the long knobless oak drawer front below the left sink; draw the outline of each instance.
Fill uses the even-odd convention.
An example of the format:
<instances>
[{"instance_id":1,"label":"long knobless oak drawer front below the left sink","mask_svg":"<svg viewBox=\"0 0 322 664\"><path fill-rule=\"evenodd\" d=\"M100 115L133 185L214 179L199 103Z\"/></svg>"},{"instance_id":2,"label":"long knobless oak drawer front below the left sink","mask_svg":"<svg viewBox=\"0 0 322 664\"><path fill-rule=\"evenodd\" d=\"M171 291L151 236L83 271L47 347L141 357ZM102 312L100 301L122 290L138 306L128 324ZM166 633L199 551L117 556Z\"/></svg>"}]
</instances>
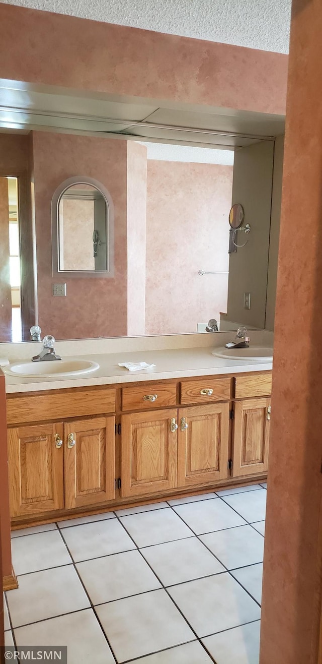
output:
<instances>
[{"instance_id":1,"label":"long knobless oak drawer front below the left sink","mask_svg":"<svg viewBox=\"0 0 322 664\"><path fill-rule=\"evenodd\" d=\"M67 390L7 399L7 424L42 422L115 412L115 390Z\"/></svg>"}]
</instances>

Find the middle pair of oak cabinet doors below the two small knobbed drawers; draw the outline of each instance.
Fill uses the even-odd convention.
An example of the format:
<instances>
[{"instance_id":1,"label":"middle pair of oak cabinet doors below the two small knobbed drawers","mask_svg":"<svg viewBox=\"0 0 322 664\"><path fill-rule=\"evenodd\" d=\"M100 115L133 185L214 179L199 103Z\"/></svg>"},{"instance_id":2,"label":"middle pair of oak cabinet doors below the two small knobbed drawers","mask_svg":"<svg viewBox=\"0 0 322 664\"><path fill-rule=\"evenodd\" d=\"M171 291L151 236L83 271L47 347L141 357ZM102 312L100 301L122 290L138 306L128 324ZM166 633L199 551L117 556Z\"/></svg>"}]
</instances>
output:
<instances>
[{"instance_id":1,"label":"middle pair of oak cabinet doors below the two small knobbed drawers","mask_svg":"<svg viewBox=\"0 0 322 664\"><path fill-rule=\"evenodd\" d=\"M121 432L122 497L228 477L229 403L123 415Z\"/></svg>"}]
</instances>

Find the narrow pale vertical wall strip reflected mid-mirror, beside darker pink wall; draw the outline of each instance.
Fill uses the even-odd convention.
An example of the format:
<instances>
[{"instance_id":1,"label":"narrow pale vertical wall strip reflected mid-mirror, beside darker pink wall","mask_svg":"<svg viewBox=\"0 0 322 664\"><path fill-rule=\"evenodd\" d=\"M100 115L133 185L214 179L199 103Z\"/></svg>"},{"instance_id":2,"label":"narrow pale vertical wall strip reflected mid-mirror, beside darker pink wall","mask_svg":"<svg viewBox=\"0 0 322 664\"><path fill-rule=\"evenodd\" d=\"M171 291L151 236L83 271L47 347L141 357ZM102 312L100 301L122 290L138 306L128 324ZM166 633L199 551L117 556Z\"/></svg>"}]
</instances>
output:
<instances>
[{"instance_id":1,"label":"narrow pale vertical wall strip reflected mid-mirror, beside darker pink wall","mask_svg":"<svg viewBox=\"0 0 322 664\"><path fill-rule=\"evenodd\" d=\"M144 335L146 147L127 143L127 333Z\"/></svg>"}]
</instances>

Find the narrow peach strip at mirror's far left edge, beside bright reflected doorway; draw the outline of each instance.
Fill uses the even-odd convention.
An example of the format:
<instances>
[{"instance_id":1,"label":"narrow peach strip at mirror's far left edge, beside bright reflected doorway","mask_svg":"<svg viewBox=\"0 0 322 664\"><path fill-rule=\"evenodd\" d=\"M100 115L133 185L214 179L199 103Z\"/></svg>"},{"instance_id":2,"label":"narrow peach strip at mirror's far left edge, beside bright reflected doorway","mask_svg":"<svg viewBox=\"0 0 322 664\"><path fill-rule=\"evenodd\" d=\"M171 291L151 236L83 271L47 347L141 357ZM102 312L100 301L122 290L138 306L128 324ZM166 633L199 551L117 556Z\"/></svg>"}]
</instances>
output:
<instances>
[{"instance_id":1,"label":"narrow peach strip at mirror's far left edge, beside bright reflected doorway","mask_svg":"<svg viewBox=\"0 0 322 664\"><path fill-rule=\"evenodd\" d=\"M11 341L8 181L0 177L0 341Z\"/></svg>"}]
</instances>

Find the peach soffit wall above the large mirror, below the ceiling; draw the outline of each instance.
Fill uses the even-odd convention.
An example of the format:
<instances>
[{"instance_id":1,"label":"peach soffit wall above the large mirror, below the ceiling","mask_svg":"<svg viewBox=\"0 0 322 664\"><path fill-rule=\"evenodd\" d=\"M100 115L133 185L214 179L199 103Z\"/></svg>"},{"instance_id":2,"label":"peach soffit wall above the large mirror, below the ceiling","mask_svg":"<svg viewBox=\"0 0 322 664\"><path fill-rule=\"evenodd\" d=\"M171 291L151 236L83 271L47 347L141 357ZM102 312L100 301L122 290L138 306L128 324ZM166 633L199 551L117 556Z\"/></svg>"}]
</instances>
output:
<instances>
[{"instance_id":1,"label":"peach soffit wall above the large mirror, below the ceiling","mask_svg":"<svg viewBox=\"0 0 322 664\"><path fill-rule=\"evenodd\" d=\"M288 57L0 4L1 76L283 114ZM238 20L238 19L237 19Z\"/></svg>"}]
</instances>

